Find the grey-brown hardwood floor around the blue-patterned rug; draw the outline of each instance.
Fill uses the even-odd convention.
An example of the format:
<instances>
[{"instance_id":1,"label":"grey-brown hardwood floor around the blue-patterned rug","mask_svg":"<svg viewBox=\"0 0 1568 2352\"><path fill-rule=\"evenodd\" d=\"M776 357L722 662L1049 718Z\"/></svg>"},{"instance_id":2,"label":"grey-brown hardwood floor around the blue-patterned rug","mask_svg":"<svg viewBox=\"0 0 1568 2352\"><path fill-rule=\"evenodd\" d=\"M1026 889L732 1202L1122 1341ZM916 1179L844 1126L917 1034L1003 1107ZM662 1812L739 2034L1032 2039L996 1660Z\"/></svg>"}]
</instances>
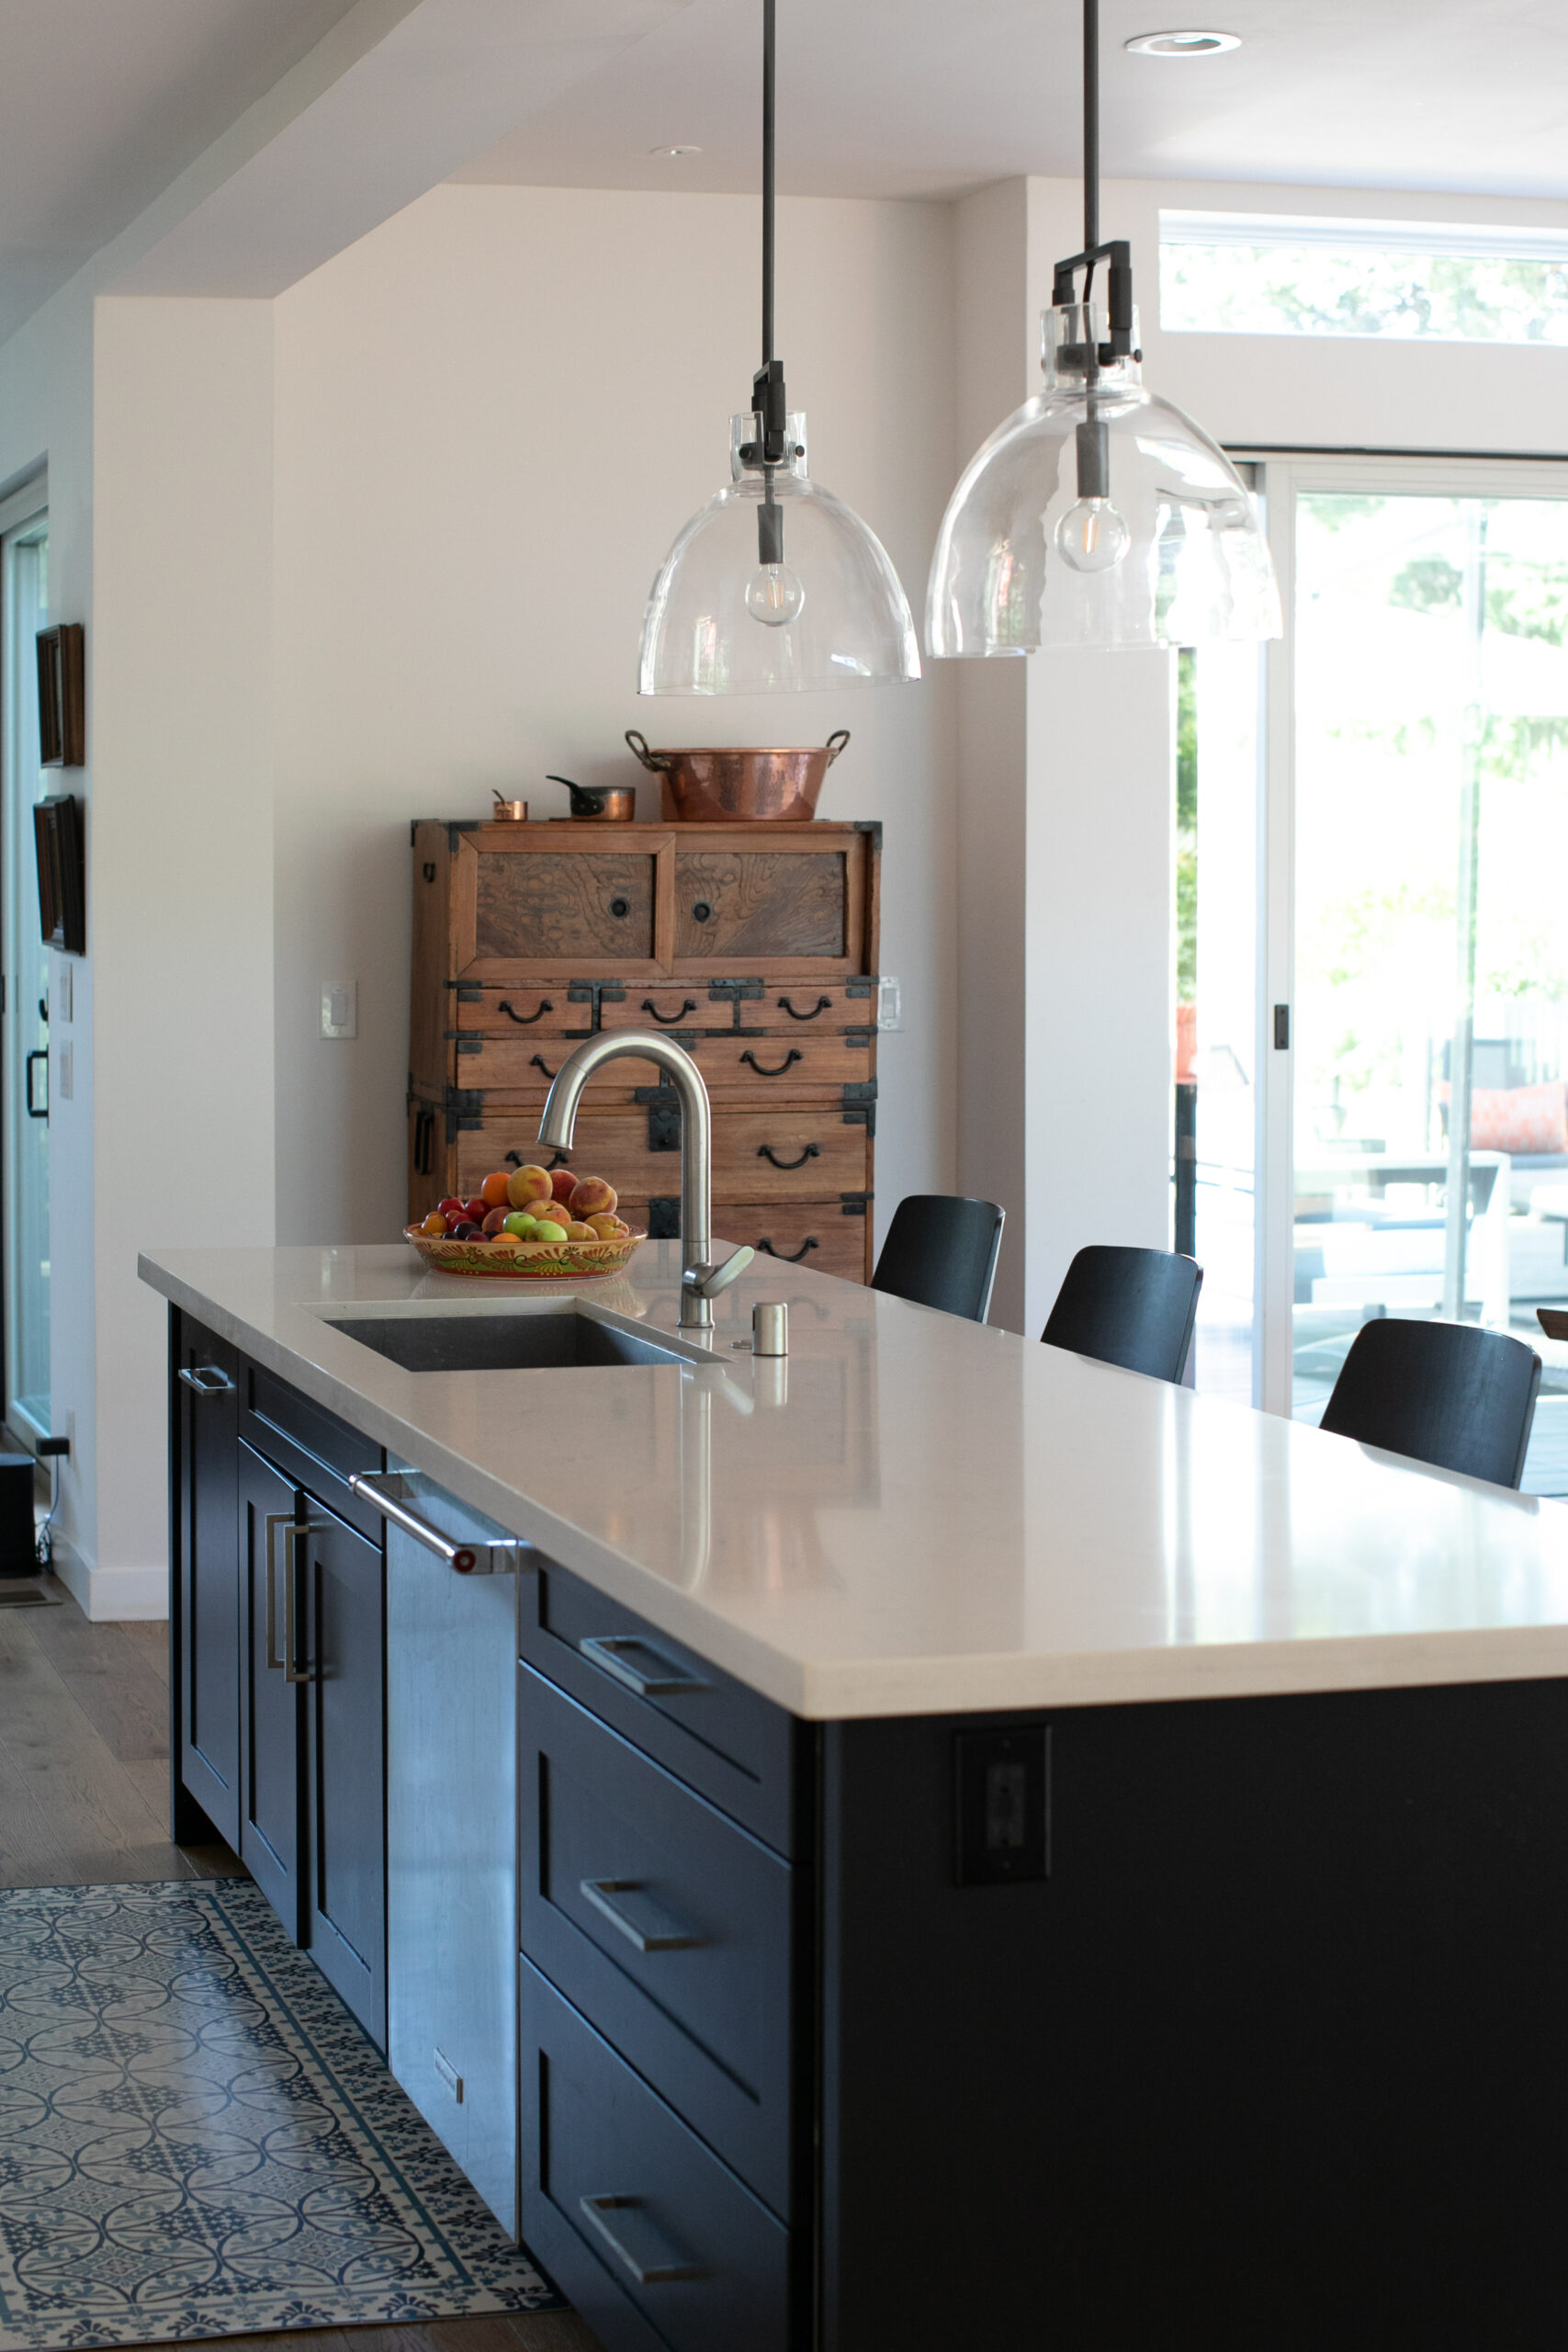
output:
<instances>
[{"instance_id":1,"label":"grey-brown hardwood floor around the blue-patterned rug","mask_svg":"<svg viewBox=\"0 0 1568 2352\"><path fill-rule=\"evenodd\" d=\"M242 1877L228 1846L169 1844L169 1628L0 1609L0 1886ZM183 2352L602 2352L576 2312L230 2336Z\"/></svg>"}]
</instances>

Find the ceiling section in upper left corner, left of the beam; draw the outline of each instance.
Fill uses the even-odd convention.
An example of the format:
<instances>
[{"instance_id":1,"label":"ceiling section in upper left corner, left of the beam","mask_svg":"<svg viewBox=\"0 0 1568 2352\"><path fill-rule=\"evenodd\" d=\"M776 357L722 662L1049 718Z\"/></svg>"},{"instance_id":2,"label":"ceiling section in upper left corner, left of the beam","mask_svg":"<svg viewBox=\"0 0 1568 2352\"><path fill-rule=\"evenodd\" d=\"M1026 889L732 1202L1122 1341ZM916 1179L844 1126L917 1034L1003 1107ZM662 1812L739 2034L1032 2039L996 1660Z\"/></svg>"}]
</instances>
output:
<instances>
[{"instance_id":1,"label":"ceiling section in upper left corner, left of the beam","mask_svg":"<svg viewBox=\"0 0 1568 2352\"><path fill-rule=\"evenodd\" d=\"M353 0L0 0L0 341Z\"/></svg>"}]
</instances>

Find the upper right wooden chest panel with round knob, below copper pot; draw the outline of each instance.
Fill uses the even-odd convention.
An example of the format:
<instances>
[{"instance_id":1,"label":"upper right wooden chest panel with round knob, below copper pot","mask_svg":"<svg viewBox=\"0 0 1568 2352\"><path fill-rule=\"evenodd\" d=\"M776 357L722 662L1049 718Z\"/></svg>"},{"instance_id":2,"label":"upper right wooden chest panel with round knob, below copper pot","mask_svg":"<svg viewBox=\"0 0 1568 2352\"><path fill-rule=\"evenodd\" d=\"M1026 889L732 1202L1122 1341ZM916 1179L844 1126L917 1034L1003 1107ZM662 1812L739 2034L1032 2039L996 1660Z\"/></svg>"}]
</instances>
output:
<instances>
[{"instance_id":1,"label":"upper right wooden chest panel with round knob, below copper pot","mask_svg":"<svg viewBox=\"0 0 1568 2352\"><path fill-rule=\"evenodd\" d=\"M672 967L715 960L858 971L865 837L675 842Z\"/></svg>"}]
</instances>

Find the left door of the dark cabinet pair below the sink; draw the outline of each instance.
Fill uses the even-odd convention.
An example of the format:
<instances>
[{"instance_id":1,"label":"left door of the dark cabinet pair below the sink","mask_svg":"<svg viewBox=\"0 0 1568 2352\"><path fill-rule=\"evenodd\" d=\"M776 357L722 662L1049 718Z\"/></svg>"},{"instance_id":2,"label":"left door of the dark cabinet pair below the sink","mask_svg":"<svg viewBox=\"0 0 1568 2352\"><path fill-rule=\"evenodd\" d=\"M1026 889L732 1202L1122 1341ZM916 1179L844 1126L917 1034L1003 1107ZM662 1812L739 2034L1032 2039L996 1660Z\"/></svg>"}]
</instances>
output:
<instances>
[{"instance_id":1,"label":"left door of the dark cabinet pair below the sink","mask_svg":"<svg viewBox=\"0 0 1568 2352\"><path fill-rule=\"evenodd\" d=\"M240 1458L240 1731L237 1851L294 1943L303 1943L303 1651L299 1491L244 1439ZM294 1595L289 1599L289 1585ZM289 1661L289 1625L294 1658Z\"/></svg>"}]
</instances>

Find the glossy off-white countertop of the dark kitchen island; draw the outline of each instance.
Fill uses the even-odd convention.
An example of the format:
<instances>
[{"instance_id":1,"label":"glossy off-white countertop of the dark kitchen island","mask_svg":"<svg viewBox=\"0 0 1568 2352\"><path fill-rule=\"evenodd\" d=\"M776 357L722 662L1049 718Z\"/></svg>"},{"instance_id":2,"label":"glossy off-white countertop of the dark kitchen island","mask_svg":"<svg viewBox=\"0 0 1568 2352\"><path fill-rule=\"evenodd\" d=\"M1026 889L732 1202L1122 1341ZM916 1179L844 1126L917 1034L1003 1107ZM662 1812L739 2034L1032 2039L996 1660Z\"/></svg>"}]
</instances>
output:
<instances>
[{"instance_id":1,"label":"glossy off-white countertop of the dark kitchen island","mask_svg":"<svg viewBox=\"0 0 1568 2352\"><path fill-rule=\"evenodd\" d=\"M677 1244L581 1296L675 1329ZM414 1374L334 1315L559 1308L378 1249L141 1275L317 1404L795 1715L1568 1672L1568 1510L797 1265L712 1362ZM571 1294L567 1294L571 1296ZM755 1298L790 1357L752 1359Z\"/></svg>"}]
</instances>

